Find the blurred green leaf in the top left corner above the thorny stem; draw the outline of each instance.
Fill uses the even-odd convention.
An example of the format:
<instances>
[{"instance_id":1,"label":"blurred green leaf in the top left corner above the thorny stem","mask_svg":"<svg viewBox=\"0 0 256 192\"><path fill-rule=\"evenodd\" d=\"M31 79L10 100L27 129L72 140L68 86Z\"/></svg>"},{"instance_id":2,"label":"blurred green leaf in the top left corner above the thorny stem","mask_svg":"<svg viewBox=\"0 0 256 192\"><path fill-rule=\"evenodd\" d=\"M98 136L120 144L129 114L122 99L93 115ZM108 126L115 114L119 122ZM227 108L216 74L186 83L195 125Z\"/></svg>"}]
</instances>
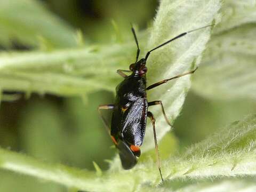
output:
<instances>
[{"instance_id":1,"label":"blurred green leaf in the top left corner above the thorny stem","mask_svg":"<svg viewBox=\"0 0 256 192\"><path fill-rule=\"evenodd\" d=\"M54 47L76 46L75 31L35 0L0 1L0 43L39 46L39 38Z\"/></svg>"}]
</instances>

